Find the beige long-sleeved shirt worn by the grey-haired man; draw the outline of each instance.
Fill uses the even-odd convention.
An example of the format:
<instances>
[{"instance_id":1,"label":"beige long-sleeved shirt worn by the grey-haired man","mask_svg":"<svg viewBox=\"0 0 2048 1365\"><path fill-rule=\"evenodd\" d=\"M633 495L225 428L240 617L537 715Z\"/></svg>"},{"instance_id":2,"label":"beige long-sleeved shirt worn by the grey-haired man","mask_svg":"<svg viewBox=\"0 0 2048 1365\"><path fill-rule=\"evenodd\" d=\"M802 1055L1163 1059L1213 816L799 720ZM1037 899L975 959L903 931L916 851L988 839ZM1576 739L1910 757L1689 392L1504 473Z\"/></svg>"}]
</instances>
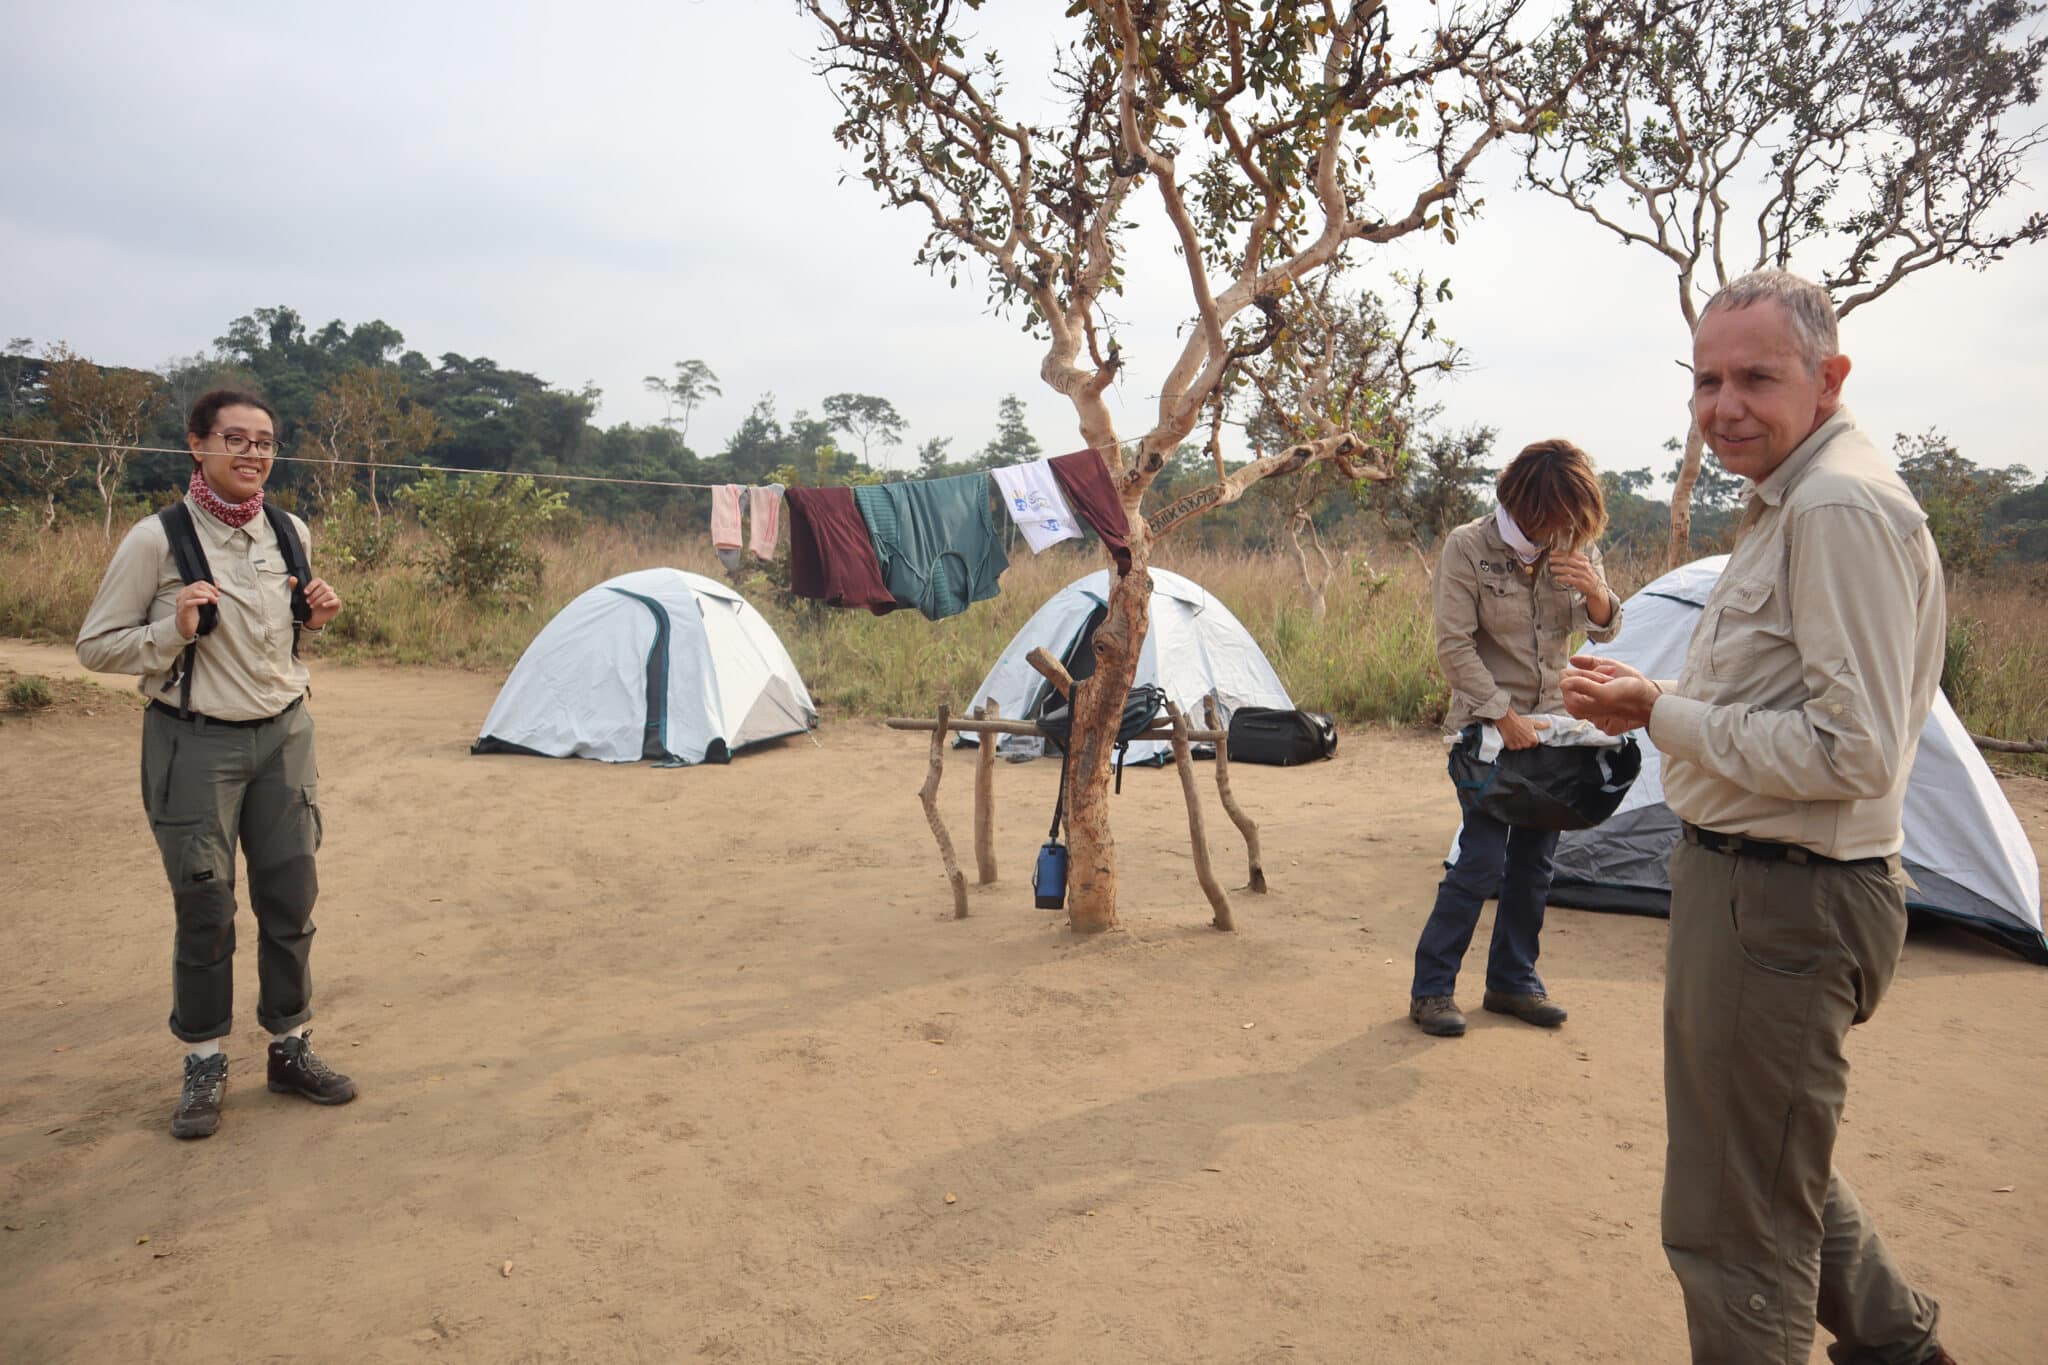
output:
<instances>
[{"instance_id":1,"label":"beige long-sleeved shirt worn by the grey-haired man","mask_svg":"<svg viewBox=\"0 0 2048 1365\"><path fill-rule=\"evenodd\" d=\"M1882 857L1942 681L1927 516L1847 409L1749 493L1651 739L1679 819Z\"/></svg>"}]
</instances>

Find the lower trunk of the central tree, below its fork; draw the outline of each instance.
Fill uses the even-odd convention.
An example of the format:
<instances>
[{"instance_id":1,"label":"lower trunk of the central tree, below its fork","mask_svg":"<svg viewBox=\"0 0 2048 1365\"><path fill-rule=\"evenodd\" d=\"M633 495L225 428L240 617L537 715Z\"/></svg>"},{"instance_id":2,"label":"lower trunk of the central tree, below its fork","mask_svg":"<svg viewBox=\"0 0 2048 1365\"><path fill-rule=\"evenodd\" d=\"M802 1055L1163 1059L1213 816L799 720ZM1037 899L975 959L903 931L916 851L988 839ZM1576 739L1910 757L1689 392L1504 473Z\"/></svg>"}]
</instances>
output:
<instances>
[{"instance_id":1,"label":"lower trunk of the central tree, below its fork","mask_svg":"<svg viewBox=\"0 0 2048 1365\"><path fill-rule=\"evenodd\" d=\"M1151 624L1151 542L1130 518L1130 573L1110 571L1108 616L1096 626L1096 675L1075 686L1073 753L1067 759L1067 925L1075 933L1116 927L1116 839L1110 835L1110 765L1124 698Z\"/></svg>"}]
</instances>

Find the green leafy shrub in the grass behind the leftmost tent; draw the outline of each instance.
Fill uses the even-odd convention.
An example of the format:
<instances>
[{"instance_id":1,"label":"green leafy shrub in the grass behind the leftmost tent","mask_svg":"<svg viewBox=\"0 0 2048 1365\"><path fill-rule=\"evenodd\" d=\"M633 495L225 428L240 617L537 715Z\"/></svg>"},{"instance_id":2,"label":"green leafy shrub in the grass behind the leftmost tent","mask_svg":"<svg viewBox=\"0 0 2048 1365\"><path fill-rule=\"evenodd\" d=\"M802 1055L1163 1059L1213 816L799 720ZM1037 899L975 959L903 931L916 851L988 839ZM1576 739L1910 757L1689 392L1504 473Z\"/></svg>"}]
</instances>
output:
<instances>
[{"instance_id":1,"label":"green leafy shrub in the grass behind the leftmost tent","mask_svg":"<svg viewBox=\"0 0 2048 1365\"><path fill-rule=\"evenodd\" d=\"M539 532L569 497L520 475L428 475L399 489L428 534L434 583L471 600L526 602L541 591Z\"/></svg>"}]
</instances>

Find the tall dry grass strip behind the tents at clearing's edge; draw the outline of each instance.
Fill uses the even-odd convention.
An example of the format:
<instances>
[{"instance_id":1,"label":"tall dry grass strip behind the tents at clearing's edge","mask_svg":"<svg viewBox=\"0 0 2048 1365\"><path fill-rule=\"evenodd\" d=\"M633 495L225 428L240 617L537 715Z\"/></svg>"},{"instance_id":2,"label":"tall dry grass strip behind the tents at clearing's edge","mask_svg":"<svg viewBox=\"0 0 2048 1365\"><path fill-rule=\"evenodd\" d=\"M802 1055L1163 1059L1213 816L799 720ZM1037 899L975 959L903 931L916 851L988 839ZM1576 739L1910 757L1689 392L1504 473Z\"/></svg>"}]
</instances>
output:
<instances>
[{"instance_id":1,"label":"tall dry grass strip behind the tents at clearing's edge","mask_svg":"<svg viewBox=\"0 0 2048 1365\"><path fill-rule=\"evenodd\" d=\"M315 565L319 538L315 524ZM504 671L563 604L608 577L653 565L723 577L709 536L696 530L664 534L575 522L543 542L547 569L530 604L475 604L430 587L418 567L420 551L420 532L408 526L385 565L328 569L348 606L313 649L340 661ZM1178 551L1167 542L1155 563L1221 598L1266 649L1296 704L1350 724L1432 724L1448 698L1436 671L1427 577L1411 555L1368 551L1354 553L1331 579L1321 620L1292 559ZM109 553L90 524L63 524L49 534L8 532L0 540L0 634L74 639ZM1024 620L1098 567L1085 546L1063 544L1038 557L1020 548L999 598L942 622L918 612L868 616L782 604L766 577L741 587L774 624L827 712L872 716L930 712L942 700L965 704ZM1608 573L1626 596L1655 577L1657 565L1616 557ZM2007 739L2048 735L2048 596L2009 579L1960 581L1950 593L1950 614L1960 632L1950 692L1964 722Z\"/></svg>"}]
</instances>

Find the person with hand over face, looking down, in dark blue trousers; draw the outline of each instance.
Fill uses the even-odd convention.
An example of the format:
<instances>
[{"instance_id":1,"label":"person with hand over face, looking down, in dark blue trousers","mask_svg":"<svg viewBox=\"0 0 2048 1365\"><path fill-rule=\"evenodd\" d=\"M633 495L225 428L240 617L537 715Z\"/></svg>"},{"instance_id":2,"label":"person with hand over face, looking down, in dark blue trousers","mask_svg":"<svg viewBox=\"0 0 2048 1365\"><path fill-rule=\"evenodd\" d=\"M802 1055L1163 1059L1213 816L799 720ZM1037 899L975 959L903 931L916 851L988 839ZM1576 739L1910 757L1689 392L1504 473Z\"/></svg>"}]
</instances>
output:
<instances>
[{"instance_id":1,"label":"person with hand over face, looking down, in dark blue trousers","mask_svg":"<svg viewBox=\"0 0 2048 1365\"><path fill-rule=\"evenodd\" d=\"M1599 477L1569 440L1540 440L1501 471L1499 508L1444 538L1436 569L1436 657L1450 681L1444 729L1493 722L1509 749L1530 749L1563 710L1559 684L1573 634L1612 641L1622 604L1593 544L1608 524ZM1536 974L1536 937L1550 894L1554 829L1513 829L1466 812L1458 862L1436 888L1415 943L1409 1019L1458 1038L1454 990L1479 911L1499 892L1487 952L1485 1007L1556 1027L1565 1009Z\"/></svg>"}]
</instances>

